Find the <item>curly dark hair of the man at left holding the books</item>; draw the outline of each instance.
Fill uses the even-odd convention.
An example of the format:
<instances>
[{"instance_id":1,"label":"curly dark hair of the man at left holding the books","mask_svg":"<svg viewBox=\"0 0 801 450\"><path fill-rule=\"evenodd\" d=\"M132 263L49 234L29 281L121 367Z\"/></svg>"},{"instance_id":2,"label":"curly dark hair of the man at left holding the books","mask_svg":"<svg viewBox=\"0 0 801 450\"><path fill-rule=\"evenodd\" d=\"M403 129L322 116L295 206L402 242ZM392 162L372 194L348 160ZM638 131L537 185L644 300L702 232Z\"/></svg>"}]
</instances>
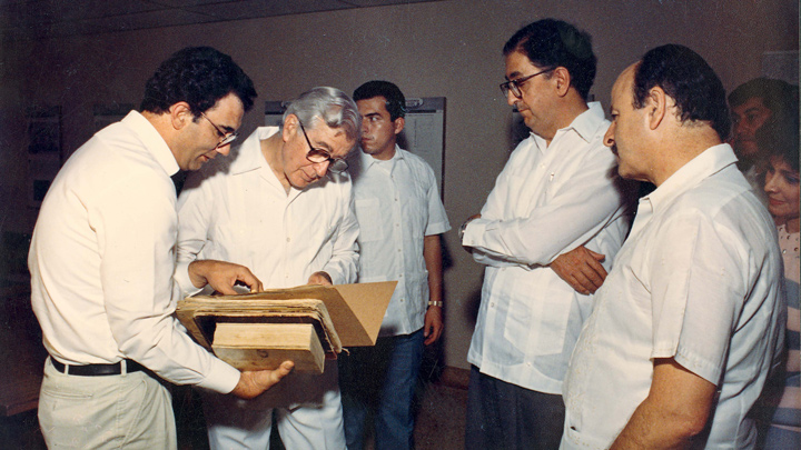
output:
<instances>
[{"instance_id":1,"label":"curly dark hair of the man at left holding the books","mask_svg":"<svg viewBox=\"0 0 801 450\"><path fill-rule=\"evenodd\" d=\"M250 78L229 56L210 47L187 47L164 61L150 77L139 109L160 114L185 101L199 117L231 92L241 100L245 111L257 96Z\"/></svg>"}]
</instances>

